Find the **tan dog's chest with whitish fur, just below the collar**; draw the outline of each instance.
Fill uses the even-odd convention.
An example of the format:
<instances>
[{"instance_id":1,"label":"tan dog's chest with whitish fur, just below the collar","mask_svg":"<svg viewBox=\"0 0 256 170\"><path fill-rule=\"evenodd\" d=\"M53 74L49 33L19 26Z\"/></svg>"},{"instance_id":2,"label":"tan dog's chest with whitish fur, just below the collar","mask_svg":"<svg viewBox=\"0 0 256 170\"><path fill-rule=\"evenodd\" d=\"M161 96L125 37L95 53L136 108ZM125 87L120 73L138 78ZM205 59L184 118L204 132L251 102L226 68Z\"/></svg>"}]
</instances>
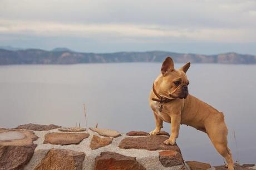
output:
<instances>
[{"instance_id":1,"label":"tan dog's chest with whitish fur, just below the collar","mask_svg":"<svg viewBox=\"0 0 256 170\"><path fill-rule=\"evenodd\" d=\"M169 116L169 111L167 107L165 106L165 103L162 105L161 109L161 104L159 102L155 102L152 104L152 109L154 110L155 114L157 117L162 119L165 122L171 123L171 118Z\"/></svg>"}]
</instances>

